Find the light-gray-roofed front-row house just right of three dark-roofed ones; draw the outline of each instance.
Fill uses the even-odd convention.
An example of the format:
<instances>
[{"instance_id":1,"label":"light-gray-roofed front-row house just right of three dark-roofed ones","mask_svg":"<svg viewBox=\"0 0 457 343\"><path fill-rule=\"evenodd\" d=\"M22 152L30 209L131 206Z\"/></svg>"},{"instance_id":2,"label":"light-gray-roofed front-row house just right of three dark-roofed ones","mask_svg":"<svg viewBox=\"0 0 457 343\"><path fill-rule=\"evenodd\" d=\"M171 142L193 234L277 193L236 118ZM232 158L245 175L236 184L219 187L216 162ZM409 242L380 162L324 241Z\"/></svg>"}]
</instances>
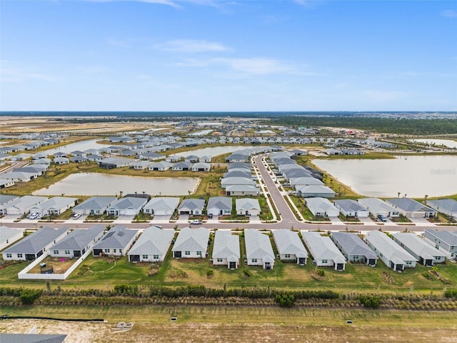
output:
<instances>
[{"instance_id":1,"label":"light-gray-roofed front-row house just right of three dark-roofed ones","mask_svg":"<svg viewBox=\"0 0 457 343\"><path fill-rule=\"evenodd\" d=\"M174 230L149 227L129 252L130 262L163 262L174 239Z\"/></svg>"}]
</instances>

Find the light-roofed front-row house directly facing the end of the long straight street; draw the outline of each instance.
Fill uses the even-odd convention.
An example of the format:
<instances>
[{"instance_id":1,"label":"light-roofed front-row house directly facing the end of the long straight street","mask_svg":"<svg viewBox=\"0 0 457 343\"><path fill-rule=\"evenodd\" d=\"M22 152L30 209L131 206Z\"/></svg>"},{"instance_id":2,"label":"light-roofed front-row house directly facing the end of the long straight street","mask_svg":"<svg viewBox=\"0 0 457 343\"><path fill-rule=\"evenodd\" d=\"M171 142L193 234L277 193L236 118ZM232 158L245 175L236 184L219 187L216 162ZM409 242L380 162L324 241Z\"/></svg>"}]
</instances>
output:
<instances>
[{"instance_id":1,"label":"light-roofed front-row house directly facing the end of the long straight street","mask_svg":"<svg viewBox=\"0 0 457 343\"><path fill-rule=\"evenodd\" d=\"M287 229L273 230L273 239L281 261L296 261L301 266L306 264L308 252L298 237L298 232Z\"/></svg>"}]
</instances>

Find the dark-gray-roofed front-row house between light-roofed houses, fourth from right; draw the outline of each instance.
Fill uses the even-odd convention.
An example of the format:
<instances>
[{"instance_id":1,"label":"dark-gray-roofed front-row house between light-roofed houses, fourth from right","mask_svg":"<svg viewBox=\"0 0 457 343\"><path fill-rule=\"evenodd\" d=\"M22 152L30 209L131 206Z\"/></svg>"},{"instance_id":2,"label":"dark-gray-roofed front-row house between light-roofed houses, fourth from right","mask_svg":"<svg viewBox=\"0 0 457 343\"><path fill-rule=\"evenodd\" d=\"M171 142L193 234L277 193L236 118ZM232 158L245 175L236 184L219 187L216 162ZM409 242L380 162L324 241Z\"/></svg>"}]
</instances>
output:
<instances>
[{"instance_id":1,"label":"dark-gray-roofed front-row house between light-roofed houses, fourth from right","mask_svg":"<svg viewBox=\"0 0 457 343\"><path fill-rule=\"evenodd\" d=\"M363 242L363 239L358 237L358 234L349 232L333 232L331 240L340 249L344 257L351 263L364 263L368 266L376 266L378 256L368 245Z\"/></svg>"}]
</instances>

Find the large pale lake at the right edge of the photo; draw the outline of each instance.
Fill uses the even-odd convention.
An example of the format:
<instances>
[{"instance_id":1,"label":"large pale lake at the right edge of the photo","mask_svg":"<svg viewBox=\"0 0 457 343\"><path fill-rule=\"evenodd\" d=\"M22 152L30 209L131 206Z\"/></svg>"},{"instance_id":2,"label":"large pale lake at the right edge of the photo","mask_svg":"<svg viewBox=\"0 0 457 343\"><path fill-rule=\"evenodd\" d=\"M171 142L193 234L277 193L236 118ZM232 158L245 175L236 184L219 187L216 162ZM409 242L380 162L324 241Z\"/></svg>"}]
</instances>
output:
<instances>
[{"instance_id":1,"label":"large pale lake at the right edge of the photo","mask_svg":"<svg viewBox=\"0 0 457 343\"><path fill-rule=\"evenodd\" d=\"M457 156L396 159L315 159L313 164L367 197L443 197L457 194Z\"/></svg>"}]
</instances>

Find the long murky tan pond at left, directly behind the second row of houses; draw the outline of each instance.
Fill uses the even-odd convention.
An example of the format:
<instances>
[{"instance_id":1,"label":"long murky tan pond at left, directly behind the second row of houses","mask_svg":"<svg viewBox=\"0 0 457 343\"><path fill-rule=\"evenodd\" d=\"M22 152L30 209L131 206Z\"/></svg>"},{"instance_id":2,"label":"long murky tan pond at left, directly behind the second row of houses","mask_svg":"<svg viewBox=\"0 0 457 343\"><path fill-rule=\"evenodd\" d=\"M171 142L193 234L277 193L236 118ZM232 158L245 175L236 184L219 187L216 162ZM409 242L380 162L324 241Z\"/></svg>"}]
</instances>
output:
<instances>
[{"instance_id":1,"label":"long murky tan pond at left, directly behind the second row of houses","mask_svg":"<svg viewBox=\"0 0 457 343\"><path fill-rule=\"evenodd\" d=\"M151 195L189 195L199 184L196 177L128 177L98 173L71 174L34 195L124 195L138 192Z\"/></svg>"}]
</instances>

